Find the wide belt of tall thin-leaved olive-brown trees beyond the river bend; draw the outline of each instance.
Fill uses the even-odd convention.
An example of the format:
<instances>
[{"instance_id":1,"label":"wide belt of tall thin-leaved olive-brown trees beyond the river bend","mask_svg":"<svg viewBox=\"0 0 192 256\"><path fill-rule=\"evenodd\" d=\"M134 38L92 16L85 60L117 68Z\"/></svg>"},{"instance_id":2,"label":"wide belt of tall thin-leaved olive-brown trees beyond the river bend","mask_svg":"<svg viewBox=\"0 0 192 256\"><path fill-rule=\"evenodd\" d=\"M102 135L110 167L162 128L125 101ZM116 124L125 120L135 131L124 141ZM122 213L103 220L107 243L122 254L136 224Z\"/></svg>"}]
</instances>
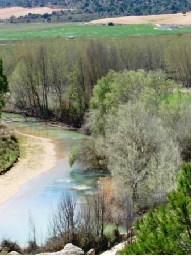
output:
<instances>
[{"instance_id":1,"label":"wide belt of tall thin-leaved olive-brown trees beyond the river bend","mask_svg":"<svg viewBox=\"0 0 192 256\"><path fill-rule=\"evenodd\" d=\"M74 127L84 122L94 86L111 69L162 69L190 86L190 38L185 36L23 41L1 47L1 56L10 81L9 102Z\"/></svg>"}]
</instances>

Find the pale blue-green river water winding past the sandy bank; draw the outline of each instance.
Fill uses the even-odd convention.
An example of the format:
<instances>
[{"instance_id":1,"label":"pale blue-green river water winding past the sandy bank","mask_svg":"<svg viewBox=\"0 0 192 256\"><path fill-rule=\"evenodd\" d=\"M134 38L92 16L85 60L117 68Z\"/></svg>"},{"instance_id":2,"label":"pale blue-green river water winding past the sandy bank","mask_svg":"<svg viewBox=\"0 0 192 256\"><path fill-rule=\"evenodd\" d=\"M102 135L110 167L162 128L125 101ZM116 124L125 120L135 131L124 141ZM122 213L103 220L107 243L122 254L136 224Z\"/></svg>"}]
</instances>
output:
<instances>
[{"instance_id":1,"label":"pale blue-green river water winding past the sandy bank","mask_svg":"<svg viewBox=\"0 0 192 256\"><path fill-rule=\"evenodd\" d=\"M23 120L17 114L3 113L2 118L5 117ZM97 180L105 175L102 171L82 173L78 167L69 166L69 152L86 138L84 134L50 127L35 118L28 118L28 121L8 123L22 133L52 139L56 145L57 163L51 170L22 185L15 196L0 205L0 240L9 238L22 246L27 245L30 236L30 216L35 221L37 242L41 244L47 238L51 210L56 209L61 194L70 191L80 203L85 195L97 189Z\"/></svg>"}]
</instances>

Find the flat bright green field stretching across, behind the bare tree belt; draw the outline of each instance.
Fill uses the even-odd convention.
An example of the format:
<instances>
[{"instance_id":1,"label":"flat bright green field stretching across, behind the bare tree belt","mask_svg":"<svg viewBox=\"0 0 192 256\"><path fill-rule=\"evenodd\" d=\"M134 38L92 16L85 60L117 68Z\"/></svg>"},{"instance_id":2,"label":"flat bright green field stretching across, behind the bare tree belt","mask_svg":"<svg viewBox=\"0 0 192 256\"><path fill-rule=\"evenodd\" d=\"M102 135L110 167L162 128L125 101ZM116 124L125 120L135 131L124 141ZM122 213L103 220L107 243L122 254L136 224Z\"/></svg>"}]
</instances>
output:
<instances>
[{"instance_id":1,"label":"flat bright green field stretching across, behind the bare tree belt","mask_svg":"<svg viewBox=\"0 0 192 256\"><path fill-rule=\"evenodd\" d=\"M144 36L190 33L190 27L174 28L173 30L154 29L153 25L84 25L68 24L0 24L0 40L34 39L68 36Z\"/></svg>"}]
</instances>

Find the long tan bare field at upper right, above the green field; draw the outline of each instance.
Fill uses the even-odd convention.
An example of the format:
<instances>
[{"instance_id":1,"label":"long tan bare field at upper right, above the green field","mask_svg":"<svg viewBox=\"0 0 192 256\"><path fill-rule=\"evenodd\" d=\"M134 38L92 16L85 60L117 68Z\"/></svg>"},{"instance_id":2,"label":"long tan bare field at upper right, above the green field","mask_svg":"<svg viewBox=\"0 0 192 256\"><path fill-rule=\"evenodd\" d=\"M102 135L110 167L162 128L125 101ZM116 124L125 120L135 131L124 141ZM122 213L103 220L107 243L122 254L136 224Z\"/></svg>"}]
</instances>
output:
<instances>
[{"instance_id":1,"label":"long tan bare field at upper right, above the green field","mask_svg":"<svg viewBox=\"0 0 192 256\"><path fill-rule=\"evenodd\" d=\"M114 22L115 24L191 24L191 13L176 14L158 14L148 16L125 16L116 18L97 19L91 21L92 24L107 24Z\"/></svg>"}]
</instances>

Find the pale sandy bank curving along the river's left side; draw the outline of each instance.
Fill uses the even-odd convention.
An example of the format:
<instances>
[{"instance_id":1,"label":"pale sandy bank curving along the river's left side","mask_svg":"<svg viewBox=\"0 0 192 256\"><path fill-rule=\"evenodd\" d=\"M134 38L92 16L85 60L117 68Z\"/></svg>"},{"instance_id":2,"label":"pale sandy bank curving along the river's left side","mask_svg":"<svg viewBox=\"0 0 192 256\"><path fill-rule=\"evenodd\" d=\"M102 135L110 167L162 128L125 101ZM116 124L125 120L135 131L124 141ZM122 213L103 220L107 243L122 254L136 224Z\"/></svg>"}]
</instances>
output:
<instances>
[{"instance_id":1,"label":"pale sandy bank curving along the river's left side","mask_svg":"<svg viewBox=\"0 0 192 256\"><path fill-rule=\"evenodd\" d=\"M56 164L55 145L50 139L18 133L26 138L26 154L6 174L0 176L0 204L5 203L33 177Z\"/></svg>"}]
</instances>

